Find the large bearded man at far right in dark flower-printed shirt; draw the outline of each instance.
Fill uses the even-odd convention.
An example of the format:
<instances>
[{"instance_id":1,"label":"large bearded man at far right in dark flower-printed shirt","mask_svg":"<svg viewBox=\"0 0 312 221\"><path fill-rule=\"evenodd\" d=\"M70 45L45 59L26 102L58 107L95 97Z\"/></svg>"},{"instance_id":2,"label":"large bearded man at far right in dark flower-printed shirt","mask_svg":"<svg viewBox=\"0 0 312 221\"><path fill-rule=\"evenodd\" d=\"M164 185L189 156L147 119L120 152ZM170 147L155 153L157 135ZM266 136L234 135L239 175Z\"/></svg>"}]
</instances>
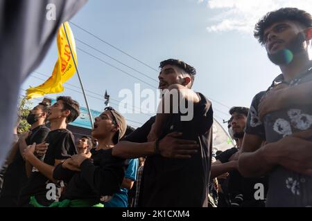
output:
<instances>
[{"instance_id":1,"label":"large bearded man at far right in dark flower-printed shirt","mask_svg":"<svg viewBox=\"0 0 312 221\"><path fill-rule=\"evenodd\" d=\"M311 27L311 15L297 8L269 12L255 27L281 75L252 100L239 171L269 175L266 206L312 205Z\"/></svg>"}]
</instances>

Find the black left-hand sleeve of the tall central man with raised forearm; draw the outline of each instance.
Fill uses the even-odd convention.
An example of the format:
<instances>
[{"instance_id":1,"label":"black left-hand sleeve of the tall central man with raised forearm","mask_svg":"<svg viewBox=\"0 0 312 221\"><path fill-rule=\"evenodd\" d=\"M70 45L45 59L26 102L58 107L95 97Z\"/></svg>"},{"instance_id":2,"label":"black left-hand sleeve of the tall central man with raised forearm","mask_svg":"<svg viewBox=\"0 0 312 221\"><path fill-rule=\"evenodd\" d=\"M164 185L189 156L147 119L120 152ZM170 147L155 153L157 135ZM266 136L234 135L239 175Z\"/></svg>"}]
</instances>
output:
<instances>
[{"instance_id":1,"label":"black left-hand sleeve of the tall central man with raised forearm","mask_svg":"<svg viewBox=\"0 0 312 221\"><path fill-rule=\"evenodd\" d=\"M150 117L150 119L141 127L137 128L135 131L130 133L123 141L145 143L147 142L148 133L150 133L150 128L155 122L156 117Z\"/></svg>"}]
</instances>

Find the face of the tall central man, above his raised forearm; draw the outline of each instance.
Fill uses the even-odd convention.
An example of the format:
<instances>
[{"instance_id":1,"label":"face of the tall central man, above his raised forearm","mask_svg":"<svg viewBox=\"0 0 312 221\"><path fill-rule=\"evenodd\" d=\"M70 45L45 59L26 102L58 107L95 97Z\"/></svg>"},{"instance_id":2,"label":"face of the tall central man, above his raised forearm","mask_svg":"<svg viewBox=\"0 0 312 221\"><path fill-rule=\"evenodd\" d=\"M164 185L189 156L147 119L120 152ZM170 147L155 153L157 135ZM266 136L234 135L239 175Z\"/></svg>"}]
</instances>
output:
<instances>
[{"instance_id":1,"label":"face of the tall central man, above his raised forearm","mask_svg":"<svg viewBox=\"0 0 312 221\"><path fill-rule=\"evenodd\" d=\"M182 73L182 70L177 66L166 65L162 68L159 73L159 89L167 89L168 86L172 84L182 84L184 81L185 74Z\"/></svg>"}]
</instances>

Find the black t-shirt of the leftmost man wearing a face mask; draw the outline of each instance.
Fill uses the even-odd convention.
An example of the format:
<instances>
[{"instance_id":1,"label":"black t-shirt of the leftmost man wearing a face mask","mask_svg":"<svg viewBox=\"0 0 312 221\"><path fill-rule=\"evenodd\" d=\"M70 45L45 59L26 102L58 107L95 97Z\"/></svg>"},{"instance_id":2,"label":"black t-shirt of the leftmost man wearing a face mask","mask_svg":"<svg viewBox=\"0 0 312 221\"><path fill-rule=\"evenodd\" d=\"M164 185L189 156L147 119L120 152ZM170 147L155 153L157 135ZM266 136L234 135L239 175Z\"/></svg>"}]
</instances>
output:
<instances>
[{"instance_id":1,"label":"black t-shirt of the leftmost man wearing a face mask","mask_svg":"<svg viewBox=\"0 0 312 221\"><path fill-rule=\"evenodd\" d=\"M26 144L33 143L40 144L44 142L46 135L50 129L44 125L37 126L29 131L26 138ZM12 163L8 166L6 175L4 177L3 189L1 191L0 206L17 206L17 197L19 191L27 182L27 175L25 169L25 161L21 156L19 149L14 157Z\"/></svg>"}]
</instances>

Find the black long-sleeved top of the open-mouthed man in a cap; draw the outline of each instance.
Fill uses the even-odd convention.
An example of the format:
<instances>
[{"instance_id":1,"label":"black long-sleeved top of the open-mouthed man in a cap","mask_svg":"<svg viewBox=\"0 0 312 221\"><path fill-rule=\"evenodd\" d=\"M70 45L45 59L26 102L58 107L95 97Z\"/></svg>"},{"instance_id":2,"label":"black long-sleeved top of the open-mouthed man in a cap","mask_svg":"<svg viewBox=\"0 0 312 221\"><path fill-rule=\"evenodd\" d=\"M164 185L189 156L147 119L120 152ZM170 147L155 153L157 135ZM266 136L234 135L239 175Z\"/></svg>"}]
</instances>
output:
<instances>
[{"instance_id":1,"label":"black long-sleeved top of the open-mouthed man in a cap","mask_svg":"<svg viewBox=\"0 0 312 221\"><path fill-rule=\"evenodd\" d=\"M62 199L88 199L99 202L101 196L117 193L125 175L126 160L112 156L112 148L91 150L91 160L80 165L80 172L64 169L62 164L53 171L55 180L64 180L67 187Z\"/></svg>"}]
</instances>

